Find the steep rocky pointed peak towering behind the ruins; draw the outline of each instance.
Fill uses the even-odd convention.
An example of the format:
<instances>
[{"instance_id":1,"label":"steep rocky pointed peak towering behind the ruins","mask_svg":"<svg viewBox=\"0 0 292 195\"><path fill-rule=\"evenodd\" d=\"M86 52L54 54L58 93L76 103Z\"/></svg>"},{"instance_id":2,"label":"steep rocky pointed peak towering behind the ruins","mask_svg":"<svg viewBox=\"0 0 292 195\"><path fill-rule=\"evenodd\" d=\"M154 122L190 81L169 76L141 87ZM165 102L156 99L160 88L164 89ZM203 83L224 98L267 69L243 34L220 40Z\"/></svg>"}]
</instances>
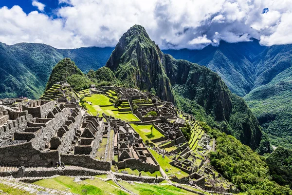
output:
<instances>
[{"instance_id":1,"label":"steep rocky pointed peak towering behind the ruins","mask_svg":"<svg viewBox=\"0 0 292 195\"><path fill-rule=\"evenodd\" d=\"M119 40L106 67L126 86L150 91L174 101L171 84L162 65L163 53L144 27L134 25Z\"/></svg>"}]
</instances>

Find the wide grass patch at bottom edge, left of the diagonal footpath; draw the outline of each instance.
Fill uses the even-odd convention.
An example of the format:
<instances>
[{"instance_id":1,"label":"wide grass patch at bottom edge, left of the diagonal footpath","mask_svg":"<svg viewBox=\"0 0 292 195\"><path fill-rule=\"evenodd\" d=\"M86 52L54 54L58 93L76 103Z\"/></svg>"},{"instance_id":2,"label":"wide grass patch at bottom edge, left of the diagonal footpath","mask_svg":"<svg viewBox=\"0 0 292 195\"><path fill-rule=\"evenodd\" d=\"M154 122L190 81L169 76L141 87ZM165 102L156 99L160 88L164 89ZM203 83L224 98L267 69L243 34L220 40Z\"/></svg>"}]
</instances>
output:
<instances>
[{"instance_id":1,"label":"wide grass patch at bottom edge, left of the diagonal footpath","mask_svg":"<svg viewBox=\"0 0 292 195\"><path fill-rule=\"evenodd\" d=\"M116 186L98 178L75 182L74 178L72 177L57 176L51 179L42 179L36 181L34 184L55 190L69 190L71 193L79 195L84 195L84 191L87 191L87 195L127 195L124 191L120 190Z\"/></svg>"}]
</instances>

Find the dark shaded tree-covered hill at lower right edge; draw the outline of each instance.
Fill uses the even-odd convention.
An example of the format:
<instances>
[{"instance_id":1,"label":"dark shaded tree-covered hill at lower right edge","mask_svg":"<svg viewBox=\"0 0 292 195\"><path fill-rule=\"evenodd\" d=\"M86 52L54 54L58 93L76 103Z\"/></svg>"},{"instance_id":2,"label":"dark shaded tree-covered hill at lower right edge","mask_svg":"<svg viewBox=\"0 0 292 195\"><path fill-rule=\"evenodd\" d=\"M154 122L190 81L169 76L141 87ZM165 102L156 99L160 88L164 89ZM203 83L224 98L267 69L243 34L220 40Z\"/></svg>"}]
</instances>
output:
<instances>
[{"instance_id":1,"label":"dark shaded tree-covered hill at lower right edge","mask_svg":"<svg viewBox=\"0 0 292 195\"><path fill-rule=\"evenodd\" d=\"M292 189L292 150L278 147L266 161L273 180Z\"/></svg>"}]
</instances>

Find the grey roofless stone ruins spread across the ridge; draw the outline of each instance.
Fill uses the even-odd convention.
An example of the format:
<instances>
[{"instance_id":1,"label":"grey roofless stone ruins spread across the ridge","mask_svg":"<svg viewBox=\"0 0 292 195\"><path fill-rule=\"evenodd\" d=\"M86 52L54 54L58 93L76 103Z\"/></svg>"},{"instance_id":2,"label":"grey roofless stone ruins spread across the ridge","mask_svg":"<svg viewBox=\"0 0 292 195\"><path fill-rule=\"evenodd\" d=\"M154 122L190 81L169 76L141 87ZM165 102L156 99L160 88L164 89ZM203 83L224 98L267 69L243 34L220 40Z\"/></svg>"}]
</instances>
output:
<instances>
[{"instance_id":1,"label":"grey roofless stone ruins spread across the ridge","mask_svg":"<svg viewBox=\"0 0 292 195\"><path fill-rule=\"evenodd\" d=\"M115 165L118 169L153 173L160 171L160 165L147 148L152 147L157 153L169 156L172 166L189 174L183 179L170 176L171 180L205 188L205 182L214 178L215 173L204 164L205 159L197 164L199 157L191 149L194 143L189 144L181 131L186 123L197 128L195 117L183 114L171 102L149 92L122 87L102 87L92 92L107 95L109 90L121 99L124 107L129 106L127 111L133 111L133 105L139 106L133 111L140 119L136 124L152 124L163 136L151 139L147 145L129 122L105 114L90 116L76 102L75 106L68 106L65 99L1 99L0 166L23 169L54 167L56 162L63 162L66 166L93 170L110 171L111 165ZM110 102L113 103L112 97ZM151 111L157 116L146 117ZM201 155L211 149L210 138L205 136L202 140L198 144ZM168 148L174 149L166 151Z\"/></svg>"}]
</instances>

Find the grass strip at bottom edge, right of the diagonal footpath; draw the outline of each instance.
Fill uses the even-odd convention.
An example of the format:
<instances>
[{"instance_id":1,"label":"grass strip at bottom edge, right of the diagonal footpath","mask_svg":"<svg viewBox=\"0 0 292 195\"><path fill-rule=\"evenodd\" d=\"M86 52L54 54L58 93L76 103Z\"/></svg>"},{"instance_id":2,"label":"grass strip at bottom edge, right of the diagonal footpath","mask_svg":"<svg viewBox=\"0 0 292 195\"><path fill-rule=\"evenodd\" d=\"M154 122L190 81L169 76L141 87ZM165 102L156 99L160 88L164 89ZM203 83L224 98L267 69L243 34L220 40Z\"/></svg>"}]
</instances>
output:
<instances>
[{"instance_id":1,"label":"grass strip at bottom edge, right of the diagonal footpath","mask_svg":"<svg viewBox=\"0 0 292 195\"><path fill-rule=\"evenodd\" d=\"M193 195L193 193L172 185L153 185L148 183L127 183L119 181L119 184L138 195Z\"/></svg>"}]
</instances>

